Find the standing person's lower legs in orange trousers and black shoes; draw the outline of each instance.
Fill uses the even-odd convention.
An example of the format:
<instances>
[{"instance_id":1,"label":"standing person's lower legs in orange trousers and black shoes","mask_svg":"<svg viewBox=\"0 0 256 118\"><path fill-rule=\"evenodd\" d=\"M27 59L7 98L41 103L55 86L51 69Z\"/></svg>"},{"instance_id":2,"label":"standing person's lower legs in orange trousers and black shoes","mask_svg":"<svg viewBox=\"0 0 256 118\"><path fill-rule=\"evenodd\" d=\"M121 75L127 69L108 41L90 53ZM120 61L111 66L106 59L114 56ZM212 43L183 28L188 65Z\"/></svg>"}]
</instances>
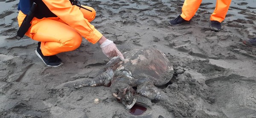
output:
<instances>
[{"instance_id":1,"label":"standing person's lower legs in orange trousers and black shoes","mask_svg":"<svg viewBox=\"0 0 256 118\"><path fill-rule=\"evenodd\" d=\"M170 20L169 24L171 26L178 26L184 23L189 23L192 17L195 15L198 10L202 0L185 0L182 6L182 13L175 18ZM214 31L221 30L221 22L225 19L227 11L230 7L231 0L217 0L216 7L212 13L211 20L211 29Z\"/></svg>"}]
</instances>

